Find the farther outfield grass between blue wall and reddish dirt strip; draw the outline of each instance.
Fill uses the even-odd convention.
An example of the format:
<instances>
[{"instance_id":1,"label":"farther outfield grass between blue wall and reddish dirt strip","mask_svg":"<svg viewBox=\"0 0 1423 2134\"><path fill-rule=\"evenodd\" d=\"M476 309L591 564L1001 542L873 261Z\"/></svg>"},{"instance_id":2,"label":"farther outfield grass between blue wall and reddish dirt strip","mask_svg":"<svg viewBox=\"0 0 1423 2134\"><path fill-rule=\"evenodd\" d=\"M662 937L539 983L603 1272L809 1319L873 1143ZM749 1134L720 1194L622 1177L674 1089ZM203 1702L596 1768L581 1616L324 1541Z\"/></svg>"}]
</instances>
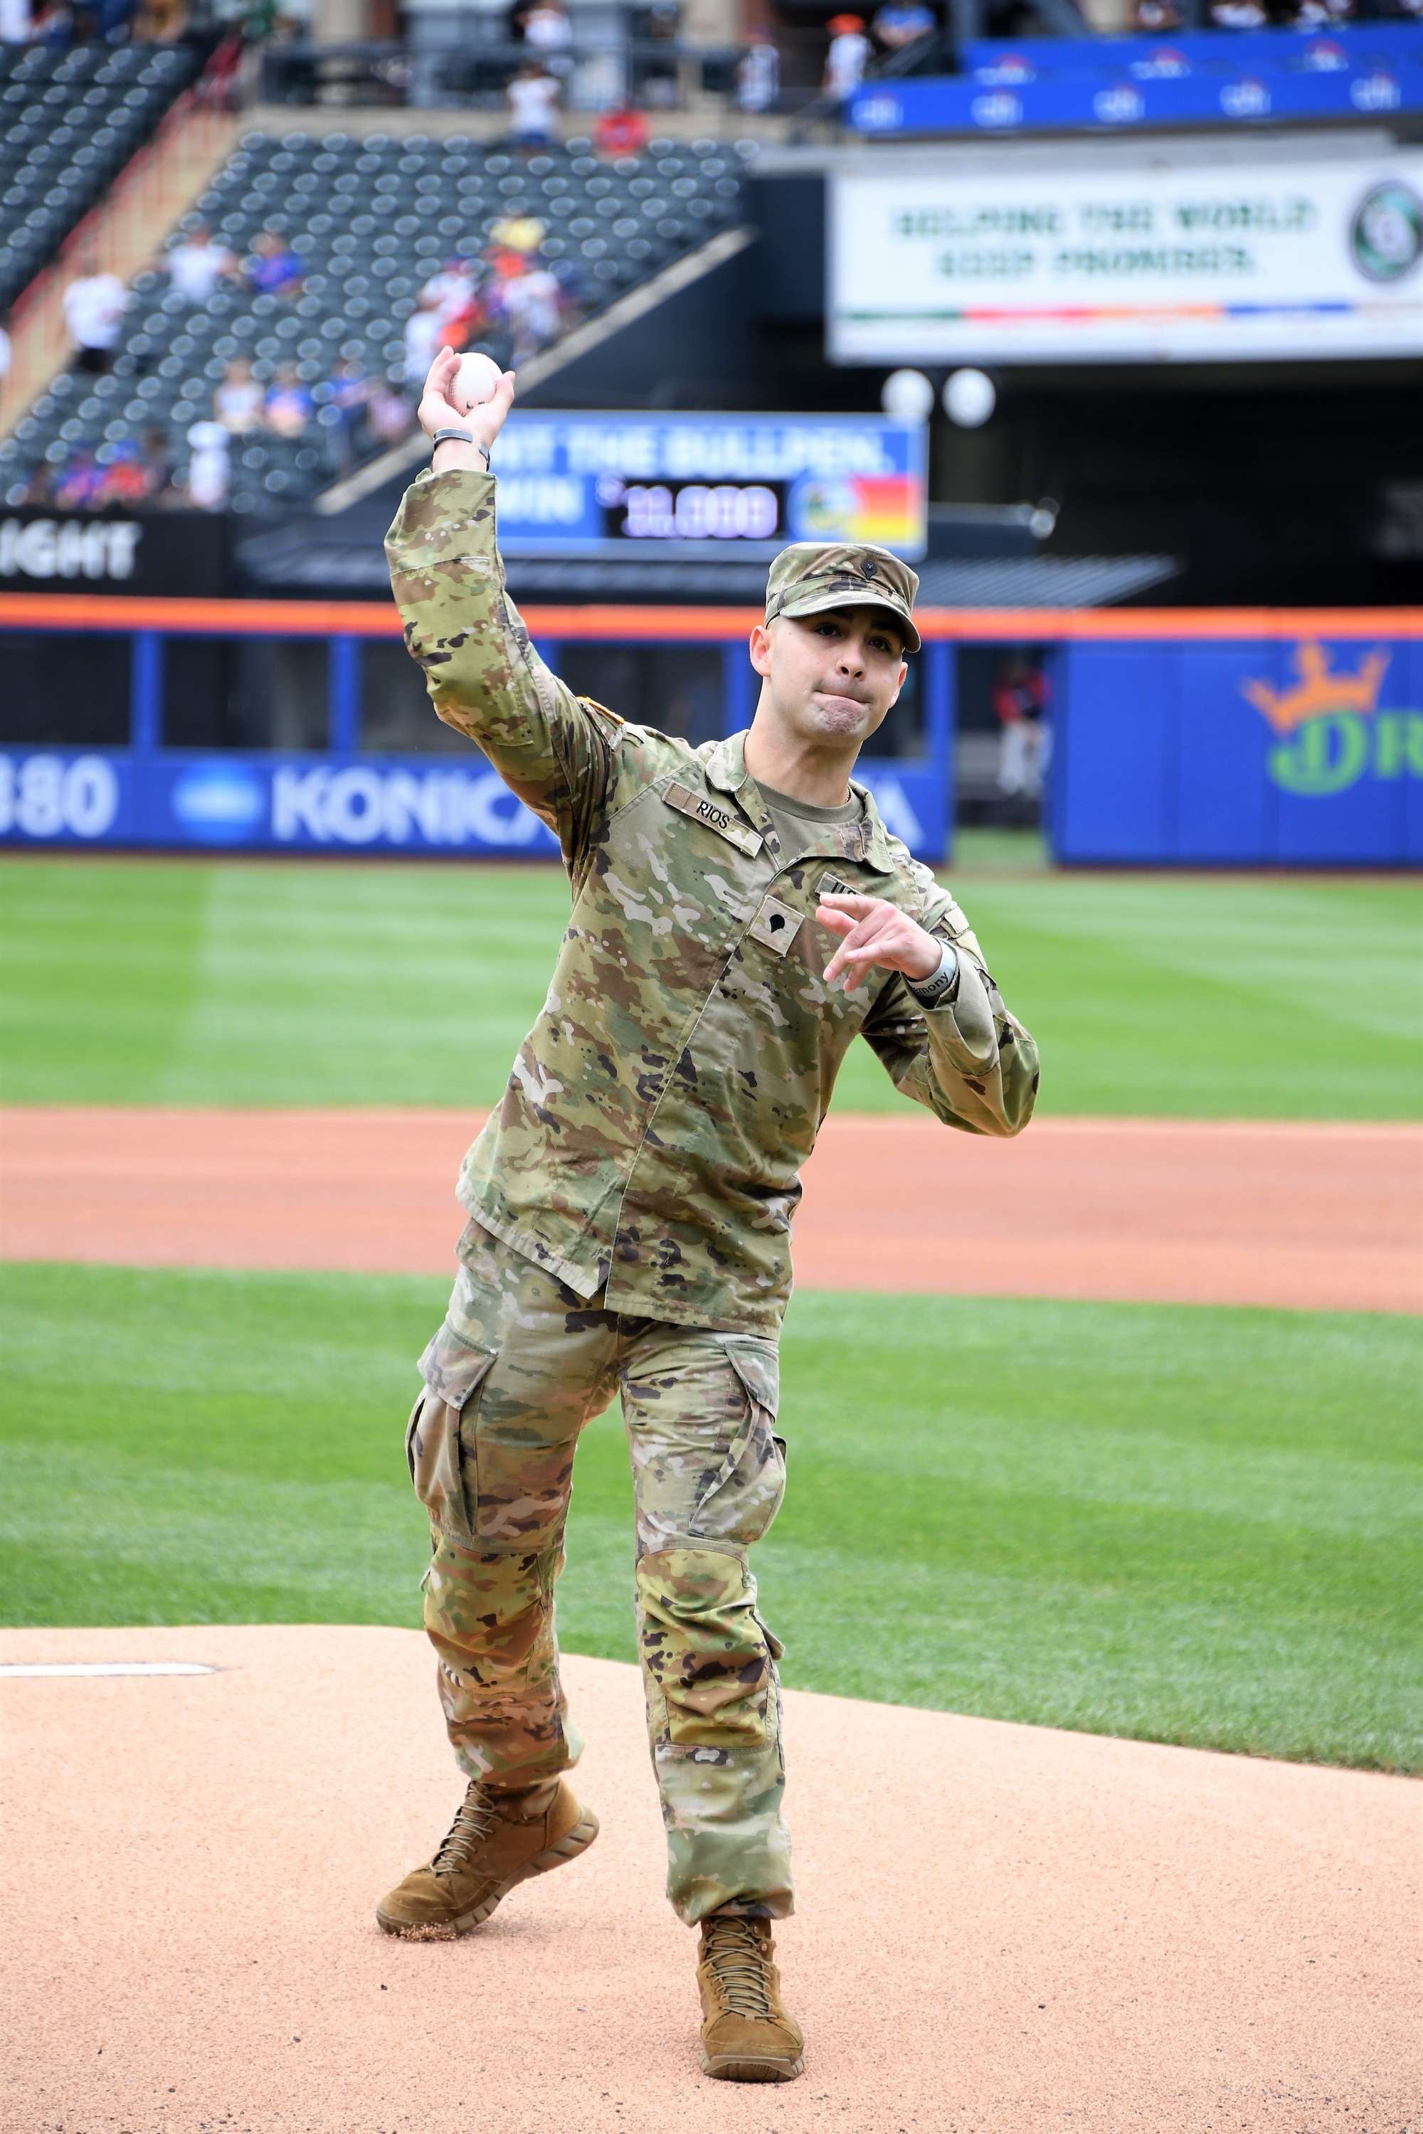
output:
<instances>
[{"instance_id":1,"label":"farther outfield grass between blue wall and reddish dirt strip","mask_svg":"<svg viewBox=\"0 0 1423 2134\"><path fill-rule=\"evenodd\" d=\"M1045 1112L1423 1116L1417 883L952 879ZM565 918L544 866L9 860L0 1095L491 1105ZM836 1103L902 1099L856 1046Z\"/></svg>"}]
</instances>

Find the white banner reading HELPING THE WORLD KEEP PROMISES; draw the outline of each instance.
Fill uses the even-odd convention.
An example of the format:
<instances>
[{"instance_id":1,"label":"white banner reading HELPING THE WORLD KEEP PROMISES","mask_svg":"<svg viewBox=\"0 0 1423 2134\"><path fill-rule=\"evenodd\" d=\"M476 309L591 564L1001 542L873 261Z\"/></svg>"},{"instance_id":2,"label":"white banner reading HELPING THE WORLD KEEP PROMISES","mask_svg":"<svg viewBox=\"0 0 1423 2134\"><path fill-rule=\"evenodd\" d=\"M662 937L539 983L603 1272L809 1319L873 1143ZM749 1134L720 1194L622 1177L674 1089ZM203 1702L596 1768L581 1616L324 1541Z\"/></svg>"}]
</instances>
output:
<instances>
[{"instance_id":1,"label":"white banner reading HELPING THE WORLD KEEP PROMISES","mask_svg":"<svg viewBox=\"0 0 1423 2134\"><path fill-rule=\"evenodd\" d=\"M1099 154L838 177L832 361L1423 352L1423 149Z\"/></svg>"}]
</instances>

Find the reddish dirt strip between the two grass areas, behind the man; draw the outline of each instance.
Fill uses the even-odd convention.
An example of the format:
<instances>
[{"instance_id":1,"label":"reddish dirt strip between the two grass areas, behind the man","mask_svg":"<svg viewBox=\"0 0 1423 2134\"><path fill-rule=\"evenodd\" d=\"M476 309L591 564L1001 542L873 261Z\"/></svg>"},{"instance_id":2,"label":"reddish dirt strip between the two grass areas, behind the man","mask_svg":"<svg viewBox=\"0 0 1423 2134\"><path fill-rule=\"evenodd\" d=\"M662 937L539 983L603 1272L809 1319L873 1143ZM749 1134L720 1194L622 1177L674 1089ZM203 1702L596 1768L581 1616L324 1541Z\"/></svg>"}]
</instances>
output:
<instances>
[{"instance_id":1,"label":"reddish dirt strip between the two grass areas, behind the man","mask_svg":"<svg viewBox=\"0 0 1423 2134\"><path fill-rule=\"evenodd\" d=\"M467 1112L0 1112L0 1255L446 1274ZM1423 1308L1423 1129L832 1116L806 1289Z\"/></svg>"}]
</instances>

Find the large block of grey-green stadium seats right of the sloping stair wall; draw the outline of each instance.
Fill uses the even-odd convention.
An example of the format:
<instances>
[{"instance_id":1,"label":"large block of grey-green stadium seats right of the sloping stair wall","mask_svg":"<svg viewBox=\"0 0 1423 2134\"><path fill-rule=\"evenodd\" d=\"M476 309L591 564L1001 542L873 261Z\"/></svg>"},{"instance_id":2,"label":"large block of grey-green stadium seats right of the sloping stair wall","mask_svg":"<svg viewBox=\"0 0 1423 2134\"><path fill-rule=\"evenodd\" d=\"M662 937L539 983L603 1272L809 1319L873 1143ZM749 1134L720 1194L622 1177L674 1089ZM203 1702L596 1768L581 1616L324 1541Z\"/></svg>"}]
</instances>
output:
<instances>
[{"instance_id":1,"label":"large block of grey-green stadium seats right of the sloping stair wall","mask_svg":"<svg viewBox=\"0 0 1423 2134\"><path fill-rule=\"evenodd\" d=\"M211 414L213 388L237 356L262 382L282 361L294 363L318 408L343 361L403 382L403 322L420 286L446 260L476 258L499 222L521 216L544 224L540 256L563 282L572 316L587 318L740 222L751 154L653 141L642 156L599 162L587 141L518 156L463 137L245 134L183 226L207 224L237 256L262 230L284 237L305 265L301 292L254 297L224 284L194 309L166 275L141 273L111 376L53 380L0 444L0 491L17 504L36 465L113 461L154 429L166 431L181 474L188 431ZM480 346L508 359L499 335ZM297 440L258 431L237 442L233 508L309 501L333 476L326 437L318 418Z\"/></svg>"}]
</instances>

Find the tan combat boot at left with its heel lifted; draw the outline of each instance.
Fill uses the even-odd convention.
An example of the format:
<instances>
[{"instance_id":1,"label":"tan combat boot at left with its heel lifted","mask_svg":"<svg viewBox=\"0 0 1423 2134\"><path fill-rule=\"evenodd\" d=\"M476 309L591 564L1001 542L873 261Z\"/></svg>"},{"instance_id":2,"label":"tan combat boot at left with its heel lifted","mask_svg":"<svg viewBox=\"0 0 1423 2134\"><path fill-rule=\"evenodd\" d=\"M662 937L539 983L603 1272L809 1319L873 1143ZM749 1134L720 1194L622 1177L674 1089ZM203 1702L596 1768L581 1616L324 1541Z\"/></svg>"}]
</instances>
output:
<instances>
[{"instance_id":1,"label":"tan combat boot at left with its heel lifted","mask_svg":"<svg viewBox=\"0 0 1423 2134\"><path fill-rule=\"evenodd\" d=\"M452 1942L482 1925L514 1882L578 1859L597 1837L597 1816L557 1778L523 1793L469 1793L433 1861L382 1897L375 1918L407 1942Z\"/></svg>"}]
</instances>

